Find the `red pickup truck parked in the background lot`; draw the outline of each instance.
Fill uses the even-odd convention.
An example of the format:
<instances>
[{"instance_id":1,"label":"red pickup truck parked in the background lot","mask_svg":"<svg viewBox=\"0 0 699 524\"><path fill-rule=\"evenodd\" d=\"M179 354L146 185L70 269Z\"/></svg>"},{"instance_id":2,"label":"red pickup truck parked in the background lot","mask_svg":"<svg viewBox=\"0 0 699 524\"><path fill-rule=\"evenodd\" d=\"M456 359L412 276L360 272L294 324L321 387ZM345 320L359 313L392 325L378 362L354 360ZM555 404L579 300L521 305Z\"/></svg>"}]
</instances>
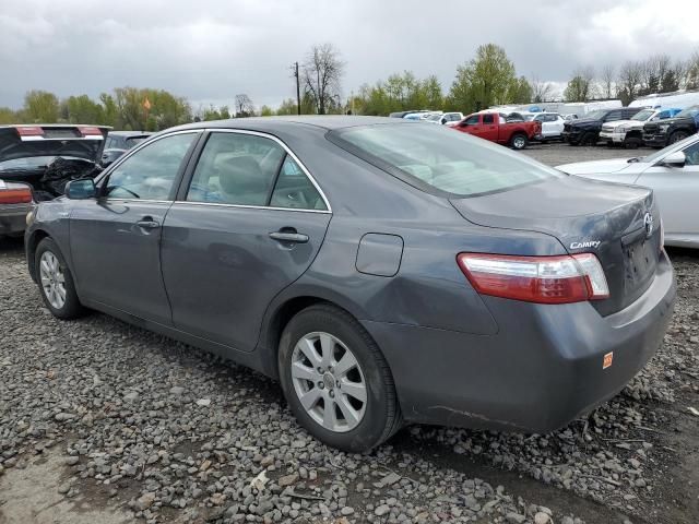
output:
<instances>
[{"instance_id":1,"label":"red pickup truck parked in the background lot","mask_svg":"<svg viewBox=\"0 0 699 524\"><path fill-rule=\"evenodd\" d=\"M509 145L513 150L523 150L542 133L541 122L508 122L507 117L498 112L474 112L451 129Z\"/></svg>"}]
</instances>

